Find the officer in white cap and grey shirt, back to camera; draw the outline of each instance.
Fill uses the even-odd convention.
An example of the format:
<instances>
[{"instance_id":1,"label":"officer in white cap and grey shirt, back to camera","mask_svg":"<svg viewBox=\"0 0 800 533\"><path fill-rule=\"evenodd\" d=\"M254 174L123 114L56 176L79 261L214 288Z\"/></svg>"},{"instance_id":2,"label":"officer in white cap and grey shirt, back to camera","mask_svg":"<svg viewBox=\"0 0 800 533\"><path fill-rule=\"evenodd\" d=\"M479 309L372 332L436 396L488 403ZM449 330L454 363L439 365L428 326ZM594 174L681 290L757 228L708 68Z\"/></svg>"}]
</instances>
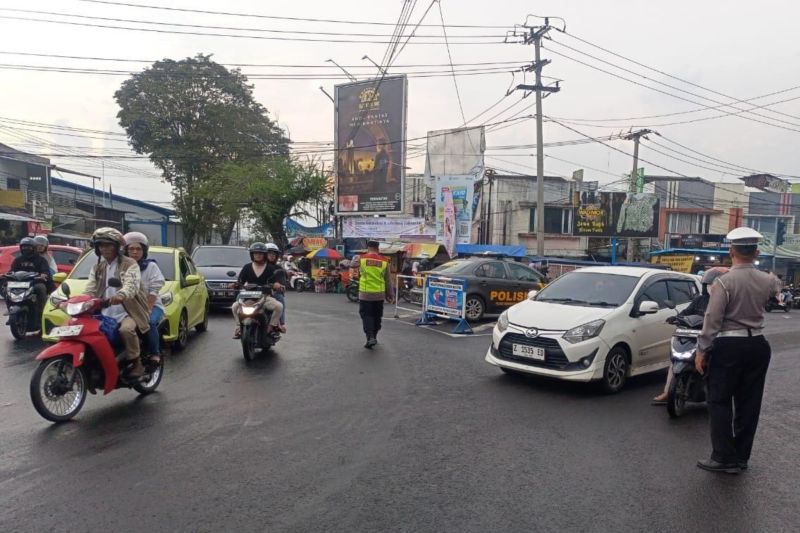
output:
<instances>
[{"instance_id":1,"label":"officer in white cap and grey shirt, back to camera","mask_svg":"<svg viewBox=\"0 0 800 533\"><path fill-rule=\"evenodd\" d=\"M747 469L761 412L771 349L764 338L764 305L775 281L755 268L761 234L728 233L733 267L717 279L697 342L695 365L708 378L711 458L697 466L738 474Z\"/></svg>"}]
</instances>

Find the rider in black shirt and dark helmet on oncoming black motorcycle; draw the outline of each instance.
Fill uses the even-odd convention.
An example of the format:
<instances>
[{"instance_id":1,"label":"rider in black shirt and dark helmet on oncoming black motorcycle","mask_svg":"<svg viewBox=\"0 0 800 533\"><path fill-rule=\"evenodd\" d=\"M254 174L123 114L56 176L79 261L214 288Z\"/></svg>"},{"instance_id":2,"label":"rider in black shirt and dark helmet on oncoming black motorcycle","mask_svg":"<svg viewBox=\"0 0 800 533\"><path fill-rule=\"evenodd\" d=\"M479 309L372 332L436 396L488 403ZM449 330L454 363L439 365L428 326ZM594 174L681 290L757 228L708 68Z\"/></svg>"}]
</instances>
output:
<instances>
[{"instance_id":1,"label":"rider in black shirt and dark helmet on oncoming black motorcycle","mask_svg":"<svg viewBox=\"0 0 800 533\"><path fill-rule=\"evenodd\" d=\"M244 287L250 283L262 287L271 284L275 294L283 291L286 284L286 272L276 264L279 256L280 249L276 245L272 243L264 244L263 242L254 242L250 245L250 260L252 262L242 267L236 284L239 287ZM269 257L272 259L268 259ZM234 302L232 307L233 318L236 321L236 330L233 334L234 339L241 337L241 328L239 327L240 308L241 304L238 301ZM272 296L267 296L264 308L270 311L269 333L275 333L277 331L286 332L286 326L281 325L283 304Z\"/></svg>"}]
</instances>

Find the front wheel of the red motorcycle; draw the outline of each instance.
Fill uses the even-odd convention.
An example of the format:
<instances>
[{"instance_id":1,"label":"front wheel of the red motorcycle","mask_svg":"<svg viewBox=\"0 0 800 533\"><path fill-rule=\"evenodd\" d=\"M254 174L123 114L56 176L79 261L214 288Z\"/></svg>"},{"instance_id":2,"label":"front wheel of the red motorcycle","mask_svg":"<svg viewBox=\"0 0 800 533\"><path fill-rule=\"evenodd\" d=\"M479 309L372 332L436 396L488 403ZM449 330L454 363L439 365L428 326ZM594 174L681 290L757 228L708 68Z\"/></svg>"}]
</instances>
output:
<instances>
[{"instance_id":1,"label":"front wheel of the red motorcycle","mask_svg":"<svg viewBox=\"0 0 800 533\"><path fill-rule=\"evenodd\" d=\"M73 377L75 383L66 390ZM83 368L72 366L72 357L46 359L31 376L31 401L36 412L51 422L66 422L78 414L86 401Z\"/></svg>"}]
</instances>

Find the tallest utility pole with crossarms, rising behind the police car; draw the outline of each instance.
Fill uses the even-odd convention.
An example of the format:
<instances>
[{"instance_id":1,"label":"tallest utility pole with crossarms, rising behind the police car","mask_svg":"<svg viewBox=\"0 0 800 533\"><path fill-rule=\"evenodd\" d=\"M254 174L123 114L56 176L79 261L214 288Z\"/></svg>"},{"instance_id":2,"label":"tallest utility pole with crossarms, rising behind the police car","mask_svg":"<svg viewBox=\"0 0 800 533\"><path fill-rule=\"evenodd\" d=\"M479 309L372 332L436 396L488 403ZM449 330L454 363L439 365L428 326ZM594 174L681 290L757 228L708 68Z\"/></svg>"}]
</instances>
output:
<instances>
[{"instance_id":1,"label":"tallest utility pole with crossarms, rising behind the police car","mask_svg":"<svg viewBox=\"0 0 800 533\"><path fill-rule=\"evenodd\" d=\"M523 35L524 44L532 44L534 48L534 62L525 67L526 72L536 74L536 84L517 85L515 90L536 93L536 255L544 256L544 141L542 128L542 93L556 93L560 89L558 82L554 87L542 85L542 69L549 63L549 59L542 60L542 39L547 35L552 26L550 19L545 17L542 26L522 26L527 30Z\"/></svg>"}]
</instances>

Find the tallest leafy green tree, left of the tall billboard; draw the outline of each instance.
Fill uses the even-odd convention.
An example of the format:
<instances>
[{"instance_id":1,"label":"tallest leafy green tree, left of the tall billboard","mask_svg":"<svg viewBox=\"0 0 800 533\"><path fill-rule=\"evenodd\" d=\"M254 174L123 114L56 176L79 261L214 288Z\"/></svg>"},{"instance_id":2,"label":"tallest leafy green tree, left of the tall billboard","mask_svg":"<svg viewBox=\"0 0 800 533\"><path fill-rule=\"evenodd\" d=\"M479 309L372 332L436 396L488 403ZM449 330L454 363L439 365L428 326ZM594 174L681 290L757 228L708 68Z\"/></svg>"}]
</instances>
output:
<instances>
[{"instance_id":1,"label":"tallest leafy green tree, left of the tall billboard","mask_svg":"<svg viewBox=\"0 0 800 533\"><path fill-rule=\"evenodd\" d=\"M230 188L214 181L224 179L220 168L289 154L289 140L256 102L247 78L211 56L157 61L123 82L114 98L131 146L172 185L189 249L213 230L229 237L236 224Z\"/></svg>"}]
</instances>

